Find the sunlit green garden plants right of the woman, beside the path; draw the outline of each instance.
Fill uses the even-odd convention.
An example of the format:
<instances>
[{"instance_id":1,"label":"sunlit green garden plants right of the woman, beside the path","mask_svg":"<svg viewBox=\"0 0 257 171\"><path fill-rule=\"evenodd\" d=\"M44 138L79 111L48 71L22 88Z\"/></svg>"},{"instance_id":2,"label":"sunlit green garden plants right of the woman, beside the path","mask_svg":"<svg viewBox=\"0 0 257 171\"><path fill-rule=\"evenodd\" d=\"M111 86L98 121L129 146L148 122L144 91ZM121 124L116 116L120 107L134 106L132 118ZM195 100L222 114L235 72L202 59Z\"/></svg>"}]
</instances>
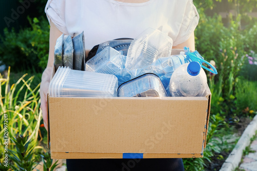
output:
<instances>
[{"instance_id":1,"label":"sunlit green garden plants right of the woman, beside the path","mask_svg":"<svg viewBox=\"0 0 257 171\"><path fill-rule=\"evenodd\" d=\"M212 100L204 157L183 161L185 170L218 170L236 144L236 134L242 134L257 110L257 16L251 15L257 1L194 0L194 4L200 15L196 50L212 61L218 74L206 71Z\"/></svg>"}]
</instances>

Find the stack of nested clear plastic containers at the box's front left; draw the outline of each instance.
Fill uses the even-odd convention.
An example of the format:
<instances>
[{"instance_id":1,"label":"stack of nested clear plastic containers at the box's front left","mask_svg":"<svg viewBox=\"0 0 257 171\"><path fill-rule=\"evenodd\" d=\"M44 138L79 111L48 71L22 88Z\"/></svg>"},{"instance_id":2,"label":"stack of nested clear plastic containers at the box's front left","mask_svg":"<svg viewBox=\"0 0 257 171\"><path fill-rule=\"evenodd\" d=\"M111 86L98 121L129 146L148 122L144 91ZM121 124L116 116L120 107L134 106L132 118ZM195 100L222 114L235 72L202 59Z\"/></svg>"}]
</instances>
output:
<instances>
[{"instance_id":1,"label":"stack of nested clear plastic containers at the box's front left","mask_svg":"<svg viewBox=\"0 0 257 171\"><path fill-rule=\"evenodd\" d=\"M49 84L50 97L116 97L115 75L59 67Z\"/></svg>"}]
</instances>

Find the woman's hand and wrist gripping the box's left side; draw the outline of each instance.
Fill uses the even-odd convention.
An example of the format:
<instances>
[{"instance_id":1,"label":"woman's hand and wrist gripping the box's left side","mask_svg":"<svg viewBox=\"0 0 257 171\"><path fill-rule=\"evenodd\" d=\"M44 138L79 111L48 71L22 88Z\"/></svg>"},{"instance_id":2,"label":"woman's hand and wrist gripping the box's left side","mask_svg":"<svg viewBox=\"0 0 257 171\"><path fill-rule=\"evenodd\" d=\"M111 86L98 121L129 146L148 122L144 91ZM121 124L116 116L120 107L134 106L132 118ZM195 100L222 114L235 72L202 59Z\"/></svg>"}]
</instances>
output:
<instances>
[{"instance_id":1,"label":"woman's hand and wrist gripping the box's left side","mask_svg":"<svg viewBox=\"0 0 257 171\"><path fill-rule=\"evenodd\" d=\"M47 67L45 71L42 74L42 81L40 85L40 101L41 105L40 108L42 110L43 120L44 120L44 126L46 130L48 131L48 125L47 125L47 93L50 83L50 77L51 77L52 67Z\"/></svg>"}]
</instances>

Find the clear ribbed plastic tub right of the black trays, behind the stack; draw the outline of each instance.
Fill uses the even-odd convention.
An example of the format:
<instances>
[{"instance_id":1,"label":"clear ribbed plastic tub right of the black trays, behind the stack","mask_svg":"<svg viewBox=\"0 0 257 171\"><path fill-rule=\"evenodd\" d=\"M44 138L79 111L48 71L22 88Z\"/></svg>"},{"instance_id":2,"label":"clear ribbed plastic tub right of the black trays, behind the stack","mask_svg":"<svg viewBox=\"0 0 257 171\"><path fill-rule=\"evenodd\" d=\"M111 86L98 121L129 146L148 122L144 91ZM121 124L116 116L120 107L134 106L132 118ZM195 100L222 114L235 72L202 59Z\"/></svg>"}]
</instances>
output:
<instances>
[{"instance_id":1,"label":"clear ribbed plastic tub right of the black trays, behind the stack","mask_svg":"<svg viewBox=\"0 0 257 171\"><path fill-rule=\"evenodd\" d=\"M123 68L124 56L119 51L107 46L85 64L85 71L115 74Z\"/></svg>"}]
</instances>

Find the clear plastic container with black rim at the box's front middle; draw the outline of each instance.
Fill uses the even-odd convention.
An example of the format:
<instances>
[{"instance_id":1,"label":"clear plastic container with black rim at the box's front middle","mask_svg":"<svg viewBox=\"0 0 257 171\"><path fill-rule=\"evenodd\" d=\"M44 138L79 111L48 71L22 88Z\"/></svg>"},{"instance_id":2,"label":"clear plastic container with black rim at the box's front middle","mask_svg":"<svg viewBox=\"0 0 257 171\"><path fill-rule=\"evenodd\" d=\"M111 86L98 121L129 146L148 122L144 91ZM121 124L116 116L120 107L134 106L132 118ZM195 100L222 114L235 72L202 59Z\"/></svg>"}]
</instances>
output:
<instances>
[{"instance_id":1,"label":"clear plastic container with black rim at the box's front middle","mask_svg":"<svg viewBox=\"0 0 257 171\"><path fill-rule=\"evenodd\" d=\"M118 88L118 97L167 97L167 93L153 73L146 73L123 83Z\"/></svg>"}]
</instances>

